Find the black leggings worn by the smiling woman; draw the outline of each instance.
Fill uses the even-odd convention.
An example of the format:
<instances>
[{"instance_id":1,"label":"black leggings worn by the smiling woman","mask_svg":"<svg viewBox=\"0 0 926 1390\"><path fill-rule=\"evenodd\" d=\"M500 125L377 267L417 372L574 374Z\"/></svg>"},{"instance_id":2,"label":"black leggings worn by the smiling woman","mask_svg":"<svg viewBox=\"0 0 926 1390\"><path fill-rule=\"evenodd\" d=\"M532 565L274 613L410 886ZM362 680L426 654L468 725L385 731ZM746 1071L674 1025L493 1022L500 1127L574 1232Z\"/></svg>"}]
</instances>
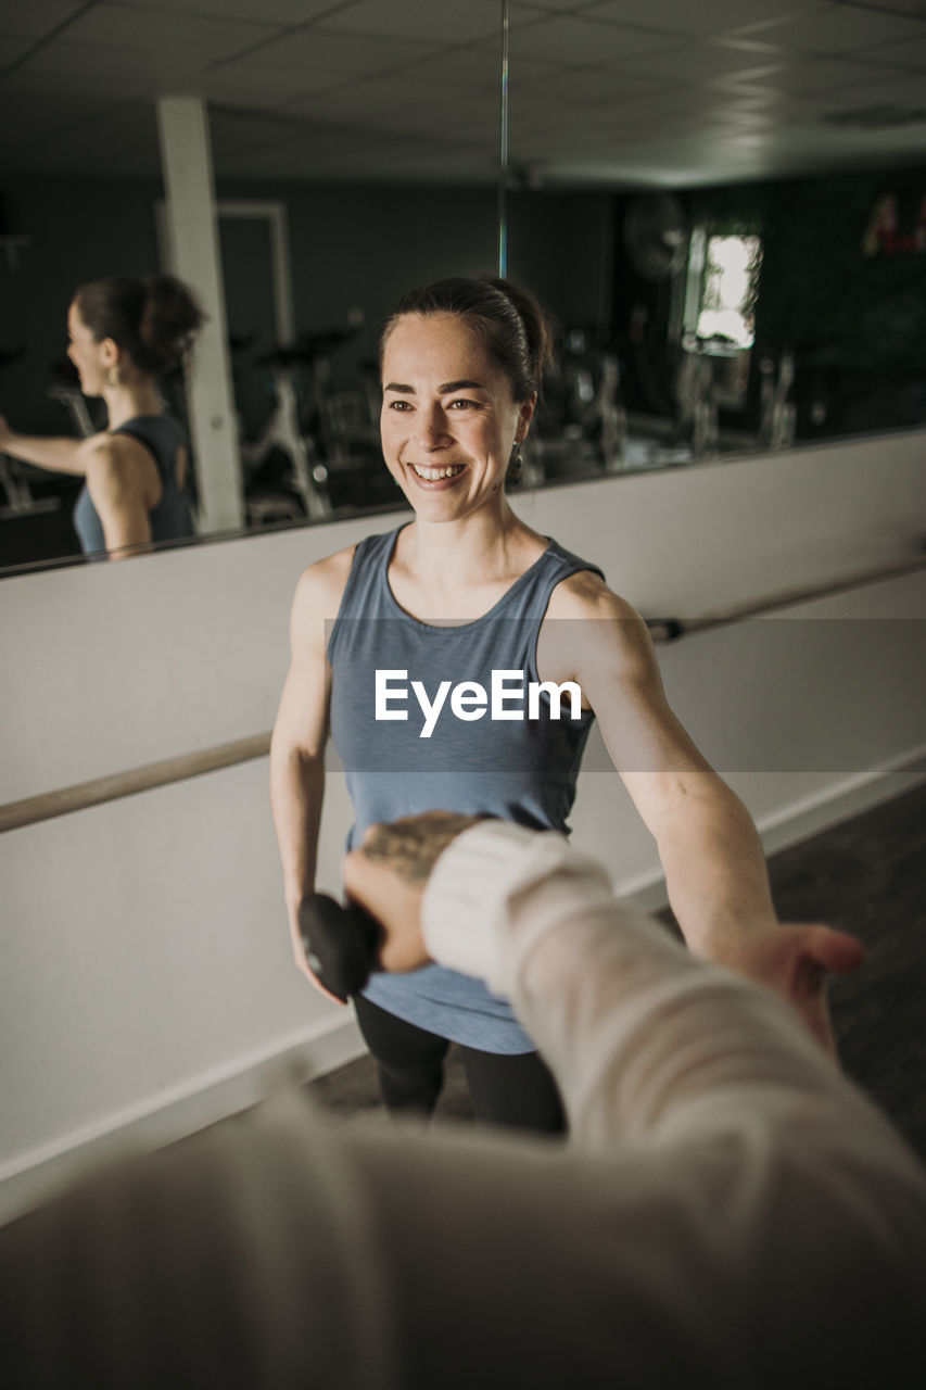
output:
<instances>
[{"instance_id":1,"label":"black leggings worn by the smiling woman","mask_svg":"<svg viewBox=\"0 0 926 1390\"><path fill-rule=\"evenodd\" d=\"M446 1038L406 1023L355 995L357 1022L380 1077L387 1109L393 1115L431 1115L444 1084ZM476 1118L488 1125L562 1134L563 1104L553 1074L539 1052L513 1056L460 1047Z\"/></svg>"}]
</instances>

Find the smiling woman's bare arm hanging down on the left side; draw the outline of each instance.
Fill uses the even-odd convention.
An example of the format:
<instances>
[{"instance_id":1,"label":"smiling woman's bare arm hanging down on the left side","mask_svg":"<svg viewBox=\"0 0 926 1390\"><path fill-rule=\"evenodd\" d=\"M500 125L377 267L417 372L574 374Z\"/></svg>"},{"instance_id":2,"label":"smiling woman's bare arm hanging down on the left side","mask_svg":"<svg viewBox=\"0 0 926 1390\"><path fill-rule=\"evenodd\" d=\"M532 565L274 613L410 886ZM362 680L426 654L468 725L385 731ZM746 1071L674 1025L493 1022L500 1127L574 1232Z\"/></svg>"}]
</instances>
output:
<instances>
[{"instance_id":1,"label":"smiling woman's bare arm hanging down on the left side","mask_svg":"<svg viewBox=\"0 0 926 1390\"><path fill-rule=\"evenodd\" d=\"M323 994L328 991L321 988L306 962L298 913L316 885L325 784L324 749L331 702L325 623L341 606L352 555L352 550L342 550L321 560L299 581L289 621L291 666L270 745L270 805L282 860L293 958Z\"/></svg>"}]
</instances>

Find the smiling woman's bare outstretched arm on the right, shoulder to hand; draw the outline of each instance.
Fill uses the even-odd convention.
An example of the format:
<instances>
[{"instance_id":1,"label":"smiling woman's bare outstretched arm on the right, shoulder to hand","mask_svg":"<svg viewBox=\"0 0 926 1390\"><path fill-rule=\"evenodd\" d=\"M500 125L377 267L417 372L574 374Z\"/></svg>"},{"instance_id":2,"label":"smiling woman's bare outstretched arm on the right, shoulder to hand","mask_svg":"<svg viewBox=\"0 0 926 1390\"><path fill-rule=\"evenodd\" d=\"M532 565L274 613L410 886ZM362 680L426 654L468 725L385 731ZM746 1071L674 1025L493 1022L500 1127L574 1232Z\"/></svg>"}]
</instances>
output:
<instances>
[{"instance_id":1,"label":"smiling woman's bare outstretched arm on the right, shoulder to hand","mask_svg":"<svg viewBox=\"0 0 926 1390\"><path fill-rule=\"evenodd\" d=\"M840 965L829 959L830 938L780 935L755 824L672 712L645 623L591 574L574 575L555 598L551 616L569 621L545 624L542 674L563 680L560 673L571 671L595 710L615 767L656 841L690 949L766 979L831 1047L823 972Z\"/></svg>"}]
</instances>

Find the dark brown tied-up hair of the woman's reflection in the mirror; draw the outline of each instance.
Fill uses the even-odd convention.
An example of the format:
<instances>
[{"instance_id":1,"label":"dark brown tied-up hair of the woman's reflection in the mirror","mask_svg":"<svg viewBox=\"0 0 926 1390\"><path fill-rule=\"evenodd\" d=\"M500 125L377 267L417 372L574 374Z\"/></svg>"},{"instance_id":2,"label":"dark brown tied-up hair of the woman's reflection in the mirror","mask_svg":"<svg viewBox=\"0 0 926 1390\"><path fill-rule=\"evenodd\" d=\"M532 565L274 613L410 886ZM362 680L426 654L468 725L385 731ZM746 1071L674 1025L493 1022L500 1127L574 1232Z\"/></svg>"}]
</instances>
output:
<instances>
[{"instance_id":1,"label":"dark brown tied-up hair of the woman's reflection in the mirror","mask_svg":"<svg viewBox=\"0 0 926 1390\"><path fill-rule=\"evenodd\" d=\"M196 296L172 275L113 275L81 285L78 313L97 342L111 338L139 371L168 371L199 332L204 314Z\"/></svg>"}]
</instances>

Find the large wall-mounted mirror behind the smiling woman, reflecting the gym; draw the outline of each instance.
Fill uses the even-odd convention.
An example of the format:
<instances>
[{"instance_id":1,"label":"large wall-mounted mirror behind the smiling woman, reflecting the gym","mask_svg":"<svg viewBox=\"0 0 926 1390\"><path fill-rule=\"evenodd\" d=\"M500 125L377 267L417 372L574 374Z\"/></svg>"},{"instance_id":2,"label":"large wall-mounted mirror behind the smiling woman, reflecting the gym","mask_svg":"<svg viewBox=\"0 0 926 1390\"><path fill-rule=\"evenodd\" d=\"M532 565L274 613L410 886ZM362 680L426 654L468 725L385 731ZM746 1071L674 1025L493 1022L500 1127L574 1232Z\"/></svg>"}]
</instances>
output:
<instances>
[{"instance_id":1,"label":"large wall-mounted mirror behind the smiling woman, reflecting the gym","mask_svg":"<svg viewBox=\"0 0 926 1390\"><path fill-rule=\"evenodd\" d=\"M68 302L159 264L156 100L193 92L217 199L289 239L279 343L279 221L220 218L247 525L299 524L300 468L325 514L388 506L377 324L496 263L501 8L452 32L417 0L0 19L0 411L99 427L61 370ZM534 485L923 424L919 0L510 0L509 65L509 272L562 325ZM74 557L74 484L1 463L0 564Z\"/></svg>"}]
</instances>

